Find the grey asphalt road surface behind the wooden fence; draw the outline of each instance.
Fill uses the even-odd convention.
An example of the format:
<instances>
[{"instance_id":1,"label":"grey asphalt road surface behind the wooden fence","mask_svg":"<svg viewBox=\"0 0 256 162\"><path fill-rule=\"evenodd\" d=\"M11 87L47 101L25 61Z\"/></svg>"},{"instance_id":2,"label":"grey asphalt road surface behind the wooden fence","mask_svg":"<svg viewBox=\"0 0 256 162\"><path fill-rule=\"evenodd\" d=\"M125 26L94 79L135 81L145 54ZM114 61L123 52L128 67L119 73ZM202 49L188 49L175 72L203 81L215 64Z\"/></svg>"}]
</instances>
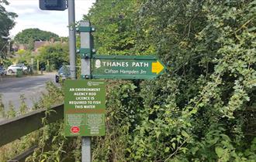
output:
<instances>
[{"instance_id":1,"label":"grey asphalt road surface behind the wooden fence","mask_svg":"<svg viewBox=\"0 0 256 162\"><path fill-rule=\"evenodd\" d=\"M45 73L43 76L2 77L0 79L0 94L5 105L5 112L9 110L9 102L12 102L16 111L19 111L20 95L24 94L26 105L31 109L33 103L40 99L41 93L46 92L48 81L54 82L55 73Z\"/></svg>"}]
</instances>

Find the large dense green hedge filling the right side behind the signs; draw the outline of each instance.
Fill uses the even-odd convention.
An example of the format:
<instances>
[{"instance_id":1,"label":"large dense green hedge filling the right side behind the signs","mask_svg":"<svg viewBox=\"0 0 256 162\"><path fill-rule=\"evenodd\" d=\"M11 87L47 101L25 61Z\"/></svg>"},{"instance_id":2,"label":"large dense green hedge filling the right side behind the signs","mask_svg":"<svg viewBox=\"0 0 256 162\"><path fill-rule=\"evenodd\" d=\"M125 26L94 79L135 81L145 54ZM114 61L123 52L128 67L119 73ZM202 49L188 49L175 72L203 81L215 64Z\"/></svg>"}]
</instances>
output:
<instances>
[{"instance_id":1,"label":"large dense green hedge filling the right side behind the signs","mask_svg":"<svg viewBox=\"0 0 256 162\"><path fill-rule=\"evenodd\" d=\"M108 93L109 129L95 139L95 161L255 161L255 7L97 1L85 19L99 54L155 53L168 71Z\"/></svg>"}]
</instances>

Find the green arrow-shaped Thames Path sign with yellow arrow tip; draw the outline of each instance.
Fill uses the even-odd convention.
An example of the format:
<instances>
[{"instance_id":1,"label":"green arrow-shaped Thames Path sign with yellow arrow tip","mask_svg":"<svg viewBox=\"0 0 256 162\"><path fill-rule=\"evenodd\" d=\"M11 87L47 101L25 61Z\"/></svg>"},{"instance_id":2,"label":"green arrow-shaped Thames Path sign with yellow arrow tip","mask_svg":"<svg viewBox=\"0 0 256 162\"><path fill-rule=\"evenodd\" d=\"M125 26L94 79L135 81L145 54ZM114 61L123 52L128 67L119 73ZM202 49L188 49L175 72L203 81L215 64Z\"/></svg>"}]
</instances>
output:
<instances>
[{"instance_id":1,"label":"green arrow-shaped Thames Path sign with yellow arrow tip","mask_svg":"<svg viewBox=\"0 0 256 162\"><path fill-rule=\"evenodd\" d=\"M92 56L92 78L154 79L164 69L154 56Z\"/></svg>"}]
</instances>

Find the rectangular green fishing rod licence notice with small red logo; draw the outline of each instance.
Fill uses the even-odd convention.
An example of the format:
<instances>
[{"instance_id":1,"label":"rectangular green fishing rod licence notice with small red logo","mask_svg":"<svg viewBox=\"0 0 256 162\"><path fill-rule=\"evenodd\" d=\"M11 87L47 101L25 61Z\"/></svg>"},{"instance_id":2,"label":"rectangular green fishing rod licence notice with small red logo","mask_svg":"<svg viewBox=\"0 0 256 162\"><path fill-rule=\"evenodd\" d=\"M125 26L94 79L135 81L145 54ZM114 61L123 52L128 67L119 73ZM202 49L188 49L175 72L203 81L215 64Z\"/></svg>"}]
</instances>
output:
<instances>
[{"instance_id":1,"label":"rectangular green fishing rod licence notice with small red logo","mask_svg":"<svg viewBox=\"0 0 256 162\"><path fill-rule=\"evenodd\" d=\"M104 136L106 86L102 80L65 80L64 134L66 137Z\"/></svg>"}]
</instances>

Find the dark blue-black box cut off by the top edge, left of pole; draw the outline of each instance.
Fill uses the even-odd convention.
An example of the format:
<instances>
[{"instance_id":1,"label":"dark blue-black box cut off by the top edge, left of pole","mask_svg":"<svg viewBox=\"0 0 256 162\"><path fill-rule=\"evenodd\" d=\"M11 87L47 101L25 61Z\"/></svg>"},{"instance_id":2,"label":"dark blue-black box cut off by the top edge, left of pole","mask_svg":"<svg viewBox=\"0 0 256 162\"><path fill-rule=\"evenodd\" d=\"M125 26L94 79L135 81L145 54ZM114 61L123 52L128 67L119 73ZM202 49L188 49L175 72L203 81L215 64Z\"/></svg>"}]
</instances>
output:
<instances>
[{"instance_id":1,"label":"dark blue-black box cut off by the top edge, left of pole","mask_svg":"<svg viewBox=\"0 0 256 162\"><path fill-rule=\"evenodd\" d=\"M39 7L42 10L64 11L67 9L67 0L39 0Z\"/></svg>"}]
</instances>

